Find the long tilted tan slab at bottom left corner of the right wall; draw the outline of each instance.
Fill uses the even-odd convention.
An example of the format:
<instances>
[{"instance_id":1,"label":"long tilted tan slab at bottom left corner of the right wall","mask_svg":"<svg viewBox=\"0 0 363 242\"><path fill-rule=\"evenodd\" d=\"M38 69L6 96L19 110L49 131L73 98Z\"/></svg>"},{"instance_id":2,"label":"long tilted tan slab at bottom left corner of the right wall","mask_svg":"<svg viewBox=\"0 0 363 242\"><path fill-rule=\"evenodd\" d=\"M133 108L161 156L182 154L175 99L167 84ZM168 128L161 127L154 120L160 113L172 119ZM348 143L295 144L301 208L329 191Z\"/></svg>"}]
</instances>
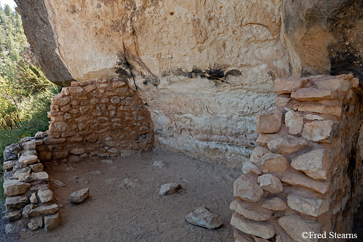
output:
<instances>
[{"instance_id":1,"label":"long tilted tan slab at bottom left corner of the right wall","mask_svg":"<svg viewBox=\"0 0 363 242\"><path fill-rule=\"evenodd\" d=\"M237 212L232 215L231 225L244 233L263 239L270 239L275 235L275 230L270 223L247 220Z\"/></svg>"}]
</instances>

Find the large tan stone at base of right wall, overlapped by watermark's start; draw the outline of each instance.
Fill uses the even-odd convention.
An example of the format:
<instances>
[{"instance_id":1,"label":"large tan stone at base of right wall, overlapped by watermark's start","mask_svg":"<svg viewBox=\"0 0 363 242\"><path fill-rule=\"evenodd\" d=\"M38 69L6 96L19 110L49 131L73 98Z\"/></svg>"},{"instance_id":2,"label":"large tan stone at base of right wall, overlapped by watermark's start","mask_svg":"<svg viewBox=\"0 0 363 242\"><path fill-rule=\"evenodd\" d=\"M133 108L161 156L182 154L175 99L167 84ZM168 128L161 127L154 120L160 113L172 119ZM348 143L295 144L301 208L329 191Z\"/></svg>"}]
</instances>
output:
<instances>
[{"instance_id":1,"label":"large tan stone at base of right wall, overlapped by watermark's start","mask_svg":"<svg viewBox=\"0 0 363 242\"><path fill-rule=\"evenodd\" d=\"M320 233L321 227L318 222L302 219L297 215L285 215L278 220L278 223L285 229L287 234L296 242L318 242L316 238L302 238L302 232Z\"/></svg>"}]
</instances>

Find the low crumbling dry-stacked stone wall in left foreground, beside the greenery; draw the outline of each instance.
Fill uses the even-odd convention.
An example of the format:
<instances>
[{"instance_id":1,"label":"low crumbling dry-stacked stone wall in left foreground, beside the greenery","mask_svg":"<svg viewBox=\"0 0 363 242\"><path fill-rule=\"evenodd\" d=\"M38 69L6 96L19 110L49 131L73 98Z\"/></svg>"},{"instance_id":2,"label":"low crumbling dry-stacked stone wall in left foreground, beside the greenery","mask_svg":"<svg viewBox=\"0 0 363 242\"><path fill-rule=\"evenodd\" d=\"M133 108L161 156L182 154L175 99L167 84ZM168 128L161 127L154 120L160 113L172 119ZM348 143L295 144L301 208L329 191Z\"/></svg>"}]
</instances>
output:
<instances>
[{"instance_id":1,"label":"low crumbling dry-stacked stone wall in left foreground, beside the greenery","mask_svg":"<svg viewBox=\"0 0 363 242\"><path fill-rule=\"evenodd\" d=\"M38 132L35 137L24 137L5 148L3 188L7 197L7 233L18 232L24 227L32 230L44 227L49 231L59 226L58 206L36 151L44 139L45 134Z\"/></svg>"}]
</instances>

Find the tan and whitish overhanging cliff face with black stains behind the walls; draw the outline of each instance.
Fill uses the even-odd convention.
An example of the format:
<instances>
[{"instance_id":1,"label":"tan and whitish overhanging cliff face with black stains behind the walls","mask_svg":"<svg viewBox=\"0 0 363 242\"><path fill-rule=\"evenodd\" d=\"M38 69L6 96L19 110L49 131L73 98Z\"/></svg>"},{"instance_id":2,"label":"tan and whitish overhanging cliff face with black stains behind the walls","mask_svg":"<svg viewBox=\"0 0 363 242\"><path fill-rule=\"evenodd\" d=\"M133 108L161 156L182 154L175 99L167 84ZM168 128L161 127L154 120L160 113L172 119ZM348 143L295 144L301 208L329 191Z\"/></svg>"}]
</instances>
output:
<instances>
[{"instance_id":1,"label":"tan and whitish overhanging cliff face with black stains behind the walls","mask_svg":"<svg viewBox=\"0 0 363 242\"><path fill-rule=\"evenodd\" d=\"M275 77L331 68L323 30L305 25L324 37L309 54L306 15L290 30L296 1L15 1L51 81L120 77L151 112L157 143L218 164L248 159Z\"/></svg>"}]
</instances>

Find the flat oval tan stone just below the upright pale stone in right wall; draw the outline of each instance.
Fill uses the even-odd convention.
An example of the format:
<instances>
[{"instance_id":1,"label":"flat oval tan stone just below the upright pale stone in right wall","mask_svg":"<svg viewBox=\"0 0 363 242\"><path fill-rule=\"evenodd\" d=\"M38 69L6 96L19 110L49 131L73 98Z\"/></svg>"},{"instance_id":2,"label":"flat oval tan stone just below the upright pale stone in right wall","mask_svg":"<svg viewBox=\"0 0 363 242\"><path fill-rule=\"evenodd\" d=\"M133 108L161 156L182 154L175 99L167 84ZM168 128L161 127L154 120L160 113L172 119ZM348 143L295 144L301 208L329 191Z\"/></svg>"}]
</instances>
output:
<instances>
[{"instance_id":1,"label":"flat oval tan stone just below the upright pale stone in right wall","mask_svg":"<svg viewBox=\"0 0 363 242\"><path fill-rule=\"evenodd\" d=\"M306 124L304 125L305 129ZM269 147L270 151L279 154L291 154L293 152L299 151L305 147L308 147L309 144L298 137L295 136L284 136L272 139L267 146Z\"/></svg>"}]
</instances>

